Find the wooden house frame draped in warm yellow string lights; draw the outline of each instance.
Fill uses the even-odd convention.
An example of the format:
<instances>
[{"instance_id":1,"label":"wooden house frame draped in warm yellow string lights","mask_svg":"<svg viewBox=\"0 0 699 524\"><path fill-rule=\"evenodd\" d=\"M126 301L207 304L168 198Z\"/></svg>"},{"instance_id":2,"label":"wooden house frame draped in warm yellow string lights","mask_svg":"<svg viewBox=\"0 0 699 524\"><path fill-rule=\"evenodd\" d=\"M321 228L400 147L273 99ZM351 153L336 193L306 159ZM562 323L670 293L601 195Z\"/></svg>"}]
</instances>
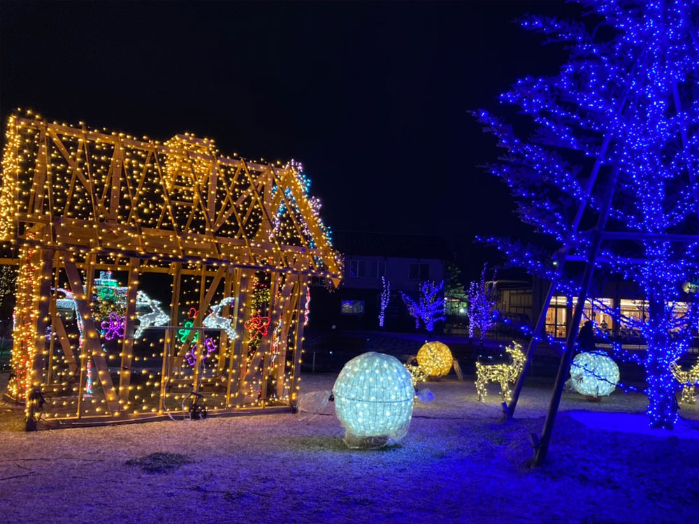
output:
<instances>
[{"instance_id":1,"label":"wooden house frame draped in warm yellow string lights","mask_svg":"<svg viewBox=\"0 0 699 524\"><path fill-rule=\"evenodd\" d=\"M29 423L157 418L195 397L209 413L295 407L310 277L337 286L341 274L295 164L225 157L190 135L158 143L28 114L8 121L2 168L0 240L19 253L3 261L19 264L8 394L29 399ZM99 310L117 305L99 302L99 271L121 279L124 336L114 341L100 329ZM253 300L261 286L266 298ZM146 289L169 322L145 326ZM82 323L59 313L66 292ZM212 311L218 323L204 322ZM260 314L271 328L247 330ZM139 319L147 329L134 340Z\"/></svg>"}]
</instances>

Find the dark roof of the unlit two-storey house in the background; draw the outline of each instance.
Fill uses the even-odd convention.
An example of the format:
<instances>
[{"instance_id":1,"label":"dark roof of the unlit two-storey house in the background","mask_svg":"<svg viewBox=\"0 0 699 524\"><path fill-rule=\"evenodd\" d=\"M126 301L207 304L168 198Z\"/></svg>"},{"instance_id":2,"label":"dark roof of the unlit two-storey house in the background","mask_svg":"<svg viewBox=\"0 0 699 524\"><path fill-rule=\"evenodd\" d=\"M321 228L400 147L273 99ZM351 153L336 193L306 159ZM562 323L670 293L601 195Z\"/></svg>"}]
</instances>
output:
<instances>
[{"instance_id":1,"label":"dark roof of the unlit two-storey house in the background","mask_svg":"<svg viewBox=\"0 0 699 524\"><path fill-rule=\"evenodd\" d=\"M333 247L346 255L399 256L442 261L451 256L447 242L436 235L333 231Z\"/></svg>"}]
</instances>

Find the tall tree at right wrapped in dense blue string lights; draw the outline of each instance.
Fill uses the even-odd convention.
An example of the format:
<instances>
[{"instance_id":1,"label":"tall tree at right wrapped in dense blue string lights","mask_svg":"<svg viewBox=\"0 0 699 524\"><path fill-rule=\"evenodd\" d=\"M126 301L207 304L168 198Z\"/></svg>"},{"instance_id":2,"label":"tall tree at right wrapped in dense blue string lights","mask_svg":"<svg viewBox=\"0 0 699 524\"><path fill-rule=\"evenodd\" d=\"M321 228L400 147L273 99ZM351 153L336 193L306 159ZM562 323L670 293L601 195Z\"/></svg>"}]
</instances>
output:
<instances>
[{"instance_id":1,"label":"tall tree at right wrapped in dense blue string lights","mask_svg":"<svg viewBox=\"0 0 699 524\"><path fill-rule=\"evenodd\" d=\"M645 321L600 301L596 307L644 336L644 354L619 344L614 351L645 368L651 426L669 429L677 421L670 363L696 326L681 286L699 256L699 4L579 3L588 10L583 22L521 22L570 50L558 74L521 78L500 95L526 117L510 117L517 122L510 126L477 113L506 150L489 170L510 187L521 218L554 246L491 240L568 296L581 288L559 264L567 271L575 260L595 258L598 270L637 284L649 303Z\"/></svg>"}]
</instances>

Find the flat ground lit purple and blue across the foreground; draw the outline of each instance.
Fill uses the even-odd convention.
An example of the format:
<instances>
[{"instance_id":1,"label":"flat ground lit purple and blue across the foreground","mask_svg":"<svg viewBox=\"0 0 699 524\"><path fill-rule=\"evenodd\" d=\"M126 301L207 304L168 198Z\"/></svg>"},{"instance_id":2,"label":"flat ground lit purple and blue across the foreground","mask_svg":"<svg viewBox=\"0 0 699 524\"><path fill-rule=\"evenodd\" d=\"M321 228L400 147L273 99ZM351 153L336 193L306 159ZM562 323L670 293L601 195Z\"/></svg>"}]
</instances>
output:
<instances>
[{"instance_id":1,"label":"flat ground lit purple and blue across the foreground","mask_svg":"<svg viewBox=\"0 0 699 524\"><path fill-rule=\"evenodd\" d=\"M334 375L305 377L305 391ZM598 404L565 393L544 467L530 470L550 386L527 384L503 421L496 386L427 385L402 446L350 451L328 414L235 416L24 433L0 417L0 522L679 523L696 518L699 440L601 429L642 412L639 394ZM693 424L698 407L682 409ZM584 421L585 423L581 423ZM695 426L696 427L696 426ZM685 429L684 432L697 431ZM193 462L150 474L155 452Z\"/></svg>"}]
</instances>

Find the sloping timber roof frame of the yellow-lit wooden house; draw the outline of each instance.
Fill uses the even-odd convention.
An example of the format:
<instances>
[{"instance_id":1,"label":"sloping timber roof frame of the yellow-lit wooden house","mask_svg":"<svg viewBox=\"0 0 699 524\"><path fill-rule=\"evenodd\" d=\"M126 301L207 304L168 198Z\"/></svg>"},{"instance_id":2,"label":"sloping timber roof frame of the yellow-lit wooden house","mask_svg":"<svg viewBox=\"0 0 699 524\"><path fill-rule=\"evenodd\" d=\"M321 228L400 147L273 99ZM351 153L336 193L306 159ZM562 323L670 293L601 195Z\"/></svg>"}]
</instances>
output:
<instances>
[{"instance_id":1,"label":"sloping timber roof frame of the yellow-lit wooden house","mask_svg":"<svg viewBox=\"0 0 699 524\"><path fill-rule=\"evenodd\" d=\"M143 258L154 256L163 260L173 260L168 257L172 256L174 252L177 254L178 260L193 259L203 263L212 260L231 261L250 267L254 265L273 266L275 269L289 269L289 261L284 261L283 258L287 256L289 251L298 249L302 253L306 252L305 263L308 268L317 269L314 267L317 257L325 261L328 270L319 270L319 276L329 277L333 279L333 282L337 282L341 276L334 261L332 250L322 242L322 235L319 235L317 229L317 221L312 216L303 191L296 187L298 183L291 180L291 177L286 177L286 180L289 181L289 189L295 192L294 201L298 203L303 219L309 224L310 231L319 248L313 249L314 252L310 253L308 246L278 245L277 238L271 240L267 238L271 219L275 212L273 209L275 199L271 198L271 186L274 180L283 180L284 173L289 173L288 169L275 167L271 163L250 163L242 159L218 157L210 143L200 144L191 137L182 139L185 142L173 148L153 142L124 138L121 134L97 133L88 131L85 127L82 129L71 128L52 124L45 120L17 117L15 122L18 133L32 132L27 131L27 129L36 129L39 133L43 133L43 143L40 143L37 151L34 152L35 166L32 176L35 177L34 187L36 191L31 191L29 196L22 197L26 200L17 202L19 214L12 219L29 224L48 224L49 227L45 231L46 238L37 239L43 242L43 247L48 249L89 247L103 254L111 252L132 256L137 253ZM72 153L64 145L64 140L69 140L71 144L77 143L77 146L71 146L74 148ZM49 147L51 141L53 147ZM99 157L99 154L94 150L94 145L97 143L111 145L114 148L111 159ZM53 154L52 150L57 150L60 154ZM127 157L127 152L131 152L132 156ZM192 174L191 187L187 188L192 190L195 207L203 210L204 220L207 223L207 231L204 234L189 231L189 228L185 226L187 217L179 217L173 212L170 189L166 187L166 184L164 185L165 179L161 169L161 161L168 155L171 155L173 159L180 159L183 163L194 162L197 166L203 166L202 169L197 168L196 173ZM138 187L134 188L131 187L129 180L131 175L127 174L127 159L139 157L145 157L145 163L138 163L138 161L133 163L134 168L136 168L136 163L143 168L140 180L138 180ZM109 161L107 174L99 175L97 169L100 166L107 167L107 161ZM52 165L59 166L59 164L67 168L66 177L62 180L52 180ZM68 173L70 173L69 176ZM236 184L236 180L240 176L247 177L247 189L242 192L239 191L238 186L231 185ZM122 178L127 179L125 182L128 189L129 212L128 214L124 213L127 216L123 217L123 224L120 224L117 218L120 216ZM160 229L165 233L164 238L160 241L150 242L149 233L141 231L144 222L143 217L138 215L138 200L146 179L149 180L148 187L150 189L162 190L159 196L160 200L154 202L161 208L163 217L168 217L168 224L159 223L159 226L154 228L158 233L161 233ZM73 211L76 183L82 184L82 187L87 191L87 200L92 209L86 211L90 212L92 216L83 224L75 224L78 226L77 230L66 231L66 226L73 221L69 214ZM61 187L58 187L59 185ZM205 187L206 194L202 194ZM226 189L225 195L219 190L219 187ZM261 191L263 188L264 193ZM283 193L285 189L287 189L286 184L282 184L280 193ZM43 211L45 205L41 202L47 190L49 214ZM55 209L52 203L52 193L59 190L66 191L66 201L60 210ZM233 192L236 193L236 196L233 196ZM106 203L107 198L108 203ZM243 198L243 202L245 202L243 210L236 209L236 201L240 201L240 198ZM26 208L27 203L31 204L28 209ZM254 240L251 238L252 235L245 231L245 228L249 227L250 224L246 226L245 219L242 218L250 217L249 213L253 208L259 209L261 213L259 224L257 223L258 219L254 219L258 233ZM226 234L224 238L216 236L215 231L219 231L229 214L236 214L237 227L233 228L231 233ZM54 225L57 228L57 238L53 238L52 226ZM15 235L17 231L21 231L11 227L10 230L14 231ZM152 233L150 237L152 238L158 233ZM243 238L238 239L240 235L243 235ZM18 235L17 240L25 240L22 238L23 236ZM232 245L224 239L229 241L242 240L242 249L233 248L226 251L224 245L226 243L229 247ZM263 245L264 243L268 245ZM246 251L247 253L245 253ZM273 263L269 261L273 261Z\"/></svg>"}]
</instances>

